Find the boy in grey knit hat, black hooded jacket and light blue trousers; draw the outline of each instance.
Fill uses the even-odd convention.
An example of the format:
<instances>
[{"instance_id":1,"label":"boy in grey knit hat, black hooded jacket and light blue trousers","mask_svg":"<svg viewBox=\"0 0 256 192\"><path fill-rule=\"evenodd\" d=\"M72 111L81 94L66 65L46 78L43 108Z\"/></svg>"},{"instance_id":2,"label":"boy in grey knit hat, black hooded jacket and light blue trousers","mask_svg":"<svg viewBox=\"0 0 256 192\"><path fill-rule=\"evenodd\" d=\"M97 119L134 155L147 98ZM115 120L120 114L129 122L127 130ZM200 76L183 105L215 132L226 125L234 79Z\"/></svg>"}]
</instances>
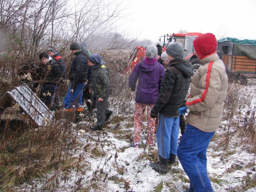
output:
<instances>
[{"instance_id":1,"label":"boy in grey knit hat, black hooded jacket and light blue trousers","mask_svg":"<svg viewBox=\"0 0 256 192\"><path fill-rule=\"evenodd\" d=\"M166 173L168 163L175 162L180 118L178 109L186 98L193 75L191 63L182 59L183 52L183 45L179 42L171 43L166 48L170 63L155 106L151 110L151 117L156 117L159 113L156 141L160 161L150 166L160 173Z\"/></svg>"}]
</instances>

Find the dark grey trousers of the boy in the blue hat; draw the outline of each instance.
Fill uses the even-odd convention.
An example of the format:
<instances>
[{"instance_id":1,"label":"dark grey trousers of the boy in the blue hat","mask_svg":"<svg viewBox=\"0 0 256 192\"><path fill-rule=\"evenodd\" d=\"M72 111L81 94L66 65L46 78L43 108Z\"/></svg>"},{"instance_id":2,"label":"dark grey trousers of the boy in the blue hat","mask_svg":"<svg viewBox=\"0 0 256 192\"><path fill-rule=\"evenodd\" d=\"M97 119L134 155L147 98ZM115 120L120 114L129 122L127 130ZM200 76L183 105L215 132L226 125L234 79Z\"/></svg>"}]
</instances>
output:
<instances>
[{"instance_id":1,"label":"dark grey trousers of the boy in the blue hat","mask_svg":"<svg viewBox=\"0 0 256 192\"><path fill-rule=\"evenodd\" d=\"M97 115L97 125L104 125L105 117L106 117L106 110L107 110L107 104L108 104L108 98L104 98L103 101L99 102L99 98L96 98L95 108L97 109L96 115Z\"/></svg>"}]
</instances>

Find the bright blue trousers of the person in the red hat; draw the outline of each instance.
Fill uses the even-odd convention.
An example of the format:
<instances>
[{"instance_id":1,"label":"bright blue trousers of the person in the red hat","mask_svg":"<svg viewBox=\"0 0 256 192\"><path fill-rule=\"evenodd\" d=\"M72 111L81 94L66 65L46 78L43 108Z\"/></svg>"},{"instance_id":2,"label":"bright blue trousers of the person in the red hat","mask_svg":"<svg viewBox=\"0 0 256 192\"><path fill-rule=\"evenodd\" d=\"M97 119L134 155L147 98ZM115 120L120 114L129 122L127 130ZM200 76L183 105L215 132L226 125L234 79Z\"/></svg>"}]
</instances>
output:
<instances>
[{"instance_id":1,"label":"bright blue trousers of the person in the red hat","mask_svg":"<svg viewBox=\"0 0 256 192\"><path fill-rule=\"evenodd\" d=\"M207 174L206 150L214 132L203 132L188 124L181 137L177 154L190 180L189 192L213 192Z\"/></svg>"}]
</instances>

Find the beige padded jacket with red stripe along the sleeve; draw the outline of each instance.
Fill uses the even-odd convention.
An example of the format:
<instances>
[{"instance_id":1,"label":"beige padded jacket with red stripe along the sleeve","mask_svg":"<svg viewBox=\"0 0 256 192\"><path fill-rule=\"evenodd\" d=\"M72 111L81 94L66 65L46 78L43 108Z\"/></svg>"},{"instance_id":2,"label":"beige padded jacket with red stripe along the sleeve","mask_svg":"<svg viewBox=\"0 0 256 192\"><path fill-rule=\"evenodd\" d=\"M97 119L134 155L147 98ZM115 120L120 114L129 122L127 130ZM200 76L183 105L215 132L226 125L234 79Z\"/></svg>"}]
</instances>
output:
<instances>
[{"instance_id":1,"label":"beige padded jacket with red stripe along the sleeve","mask_svg":"<svg viewBox=\"0 0 256 192\"><path fill-rule=\"evenodd\" d=\"M190 98L186 101L190 110L187 122L204 132L214 132L221 124L228 77L216 52L199 63L202 66L192 78Z\"/></svg>"}]
</instances>

